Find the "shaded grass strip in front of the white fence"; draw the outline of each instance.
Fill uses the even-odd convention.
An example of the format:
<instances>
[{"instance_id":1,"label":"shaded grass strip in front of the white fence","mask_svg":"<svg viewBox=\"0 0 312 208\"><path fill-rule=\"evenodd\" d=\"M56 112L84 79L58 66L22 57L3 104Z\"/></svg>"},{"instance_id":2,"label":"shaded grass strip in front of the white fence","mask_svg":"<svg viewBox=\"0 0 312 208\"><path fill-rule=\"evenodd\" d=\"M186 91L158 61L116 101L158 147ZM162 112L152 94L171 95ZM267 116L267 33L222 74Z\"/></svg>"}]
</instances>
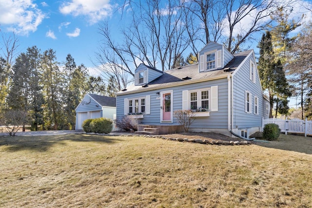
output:
<instances>
[{"instance_id":1,"label":"shaded grass strip in front of the white fence","mask_svg":"<svg viewBox=\"0 0 312 208\"><path fill-rule=\"evenodd\" d=\"M261 147L312 154L312 137L281 134L277 141L254 144Z\"/></svg>"}]
</instances>

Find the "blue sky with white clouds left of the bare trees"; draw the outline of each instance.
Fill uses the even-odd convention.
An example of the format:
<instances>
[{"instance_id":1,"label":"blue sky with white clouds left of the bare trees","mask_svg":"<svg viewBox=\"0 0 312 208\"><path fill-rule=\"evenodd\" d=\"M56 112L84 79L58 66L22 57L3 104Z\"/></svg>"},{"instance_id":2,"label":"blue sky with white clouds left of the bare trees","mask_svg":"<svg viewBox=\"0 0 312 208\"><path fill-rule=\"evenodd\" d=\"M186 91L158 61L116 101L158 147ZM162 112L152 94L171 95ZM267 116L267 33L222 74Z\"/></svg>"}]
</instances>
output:
<instances>
[{"instance_id":1,"label":"blue sky with white clouds left of the bare trees","mask_svg":"<svg viewBox=\"0 0 312 208\"><path fill-rule=\"evenodd\" d=\"M52 48L59 62L71 54L76 64L93 67L98 23L111 19L116 5L109 0L0 0L0 29L18 34L19 52L34 45L42 52Z\"/></svg>"}]
</instances>

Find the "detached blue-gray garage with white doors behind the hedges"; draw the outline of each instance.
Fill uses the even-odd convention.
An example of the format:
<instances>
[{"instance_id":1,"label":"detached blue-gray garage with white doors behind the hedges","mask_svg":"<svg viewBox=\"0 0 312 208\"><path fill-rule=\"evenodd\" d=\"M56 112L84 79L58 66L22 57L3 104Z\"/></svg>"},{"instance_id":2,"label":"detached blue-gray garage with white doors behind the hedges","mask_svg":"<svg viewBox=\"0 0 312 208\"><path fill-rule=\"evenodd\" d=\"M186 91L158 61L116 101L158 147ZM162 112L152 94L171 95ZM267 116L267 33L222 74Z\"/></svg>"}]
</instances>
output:
<instances>
[{"instance_id":1,"label":"detached blue-gray garage with white doors behind the hedges","mask_svg":"<svg viewBox=\"0 0 312 208\"><path fill-rule=\"evenodd\" d=\"M82 123L89 118L116 117L116 98L87 94L76 108L76 130L82 130Z\"/></svg>"}]
</instances>

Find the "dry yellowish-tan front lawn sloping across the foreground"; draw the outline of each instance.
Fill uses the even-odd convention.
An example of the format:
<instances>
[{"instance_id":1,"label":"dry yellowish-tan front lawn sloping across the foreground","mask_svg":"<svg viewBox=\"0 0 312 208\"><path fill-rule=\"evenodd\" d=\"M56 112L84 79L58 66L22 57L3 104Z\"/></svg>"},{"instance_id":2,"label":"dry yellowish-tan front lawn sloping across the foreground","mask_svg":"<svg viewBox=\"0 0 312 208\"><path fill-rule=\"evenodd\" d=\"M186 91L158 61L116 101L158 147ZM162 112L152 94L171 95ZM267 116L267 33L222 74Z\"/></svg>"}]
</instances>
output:
<instances>
[{"instance_id":1,"label":"dry yellowish-tan front lawn sloping across the foreground","mask_svg":"<svg viewBox=\"0 0 312 208\"><path fill-rule=\"evenodd\" d=\"M0 207L301 207L312 155L68 134L0 137Z\"/></svg>"}]
</instances>

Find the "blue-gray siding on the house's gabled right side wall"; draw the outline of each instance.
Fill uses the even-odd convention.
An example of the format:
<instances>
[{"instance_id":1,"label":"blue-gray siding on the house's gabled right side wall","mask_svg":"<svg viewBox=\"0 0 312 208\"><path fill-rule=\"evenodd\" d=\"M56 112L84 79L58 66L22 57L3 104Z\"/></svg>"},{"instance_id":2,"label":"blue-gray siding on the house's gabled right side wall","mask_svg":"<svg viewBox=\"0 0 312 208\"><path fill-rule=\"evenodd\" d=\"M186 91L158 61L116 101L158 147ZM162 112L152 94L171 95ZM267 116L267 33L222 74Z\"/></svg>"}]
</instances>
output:
<instances>
[{"instance_id":1,"label":"blue-gray siding on the house's gabled right side wall","mask_svg":"<svg viewBox=\"0 0 312 208\"><path fill-rule=\"evenodd\" d=\"M261 127L263 112L263 95L258 73L255 73L255 83L250 80L250 60L254 60L254 56L250 56L242 65L242 67L234 75L233 83L233 127L234 129L245 129L251 127ZM248 90L252 94L252 113L245 112L245 91ZM254 114L254 95L258 97L258 112Z\"/></svg>"}]
</instances>

